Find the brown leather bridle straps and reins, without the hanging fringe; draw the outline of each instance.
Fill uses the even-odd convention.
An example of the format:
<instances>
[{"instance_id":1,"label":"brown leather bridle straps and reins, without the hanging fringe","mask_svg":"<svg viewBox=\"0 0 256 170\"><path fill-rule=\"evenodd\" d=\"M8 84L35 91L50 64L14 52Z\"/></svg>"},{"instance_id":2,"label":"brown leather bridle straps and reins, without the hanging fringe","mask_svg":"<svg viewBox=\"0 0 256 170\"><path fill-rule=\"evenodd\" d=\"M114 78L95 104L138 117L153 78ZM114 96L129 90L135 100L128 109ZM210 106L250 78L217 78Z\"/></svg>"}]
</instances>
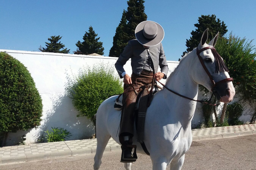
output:
<instances>
[{"instance_id":1,"label":"brown leather bridle straps and reins, without the hanging fringe","mask_svg":"<svg viewBox=\"0 0 256 170\"><path fill-rule=\"evenodd\" d=\"M233 81L233 78L226 78L226 79L223 79L223 80L221 80L221 81L215 83L215 81L213 80L213 78L212 78L210 72L208 71L208 69L206 68L206 66L205 66L205 64L204 64L204 62L203 62L203 60L202 60L202 57L200 56L200 52L202 52L202 51L204 51L204 50L207 50L207 49L214 49L214 50L216 50L214 47L210 47L210 46L209 46L209 47L202 48L202 49L200 49L200 50L199 50L198 47L197 47L197 48L196 48L196 54L197 54L197 56L198 56L198 58L199 58L199 60L200 60L200 63L202 64L202 66L203 66L205 72L207 73L207 75L209 76L209 78L210 78L210 80L211 80L211 83L212 83L212 90L213 90L213 88L216 87L218 84L224 83L224 82L228 82L228 81ZM154 80L154 79L155 79L155 74L154 74L154 76L153 76L153 80ZM158 81L158 80L156 80L156 81ZM153 81L153 82L154 82L154 81ZM173 90L167 88L167 87L166 87L163 83L161 83L160 81L158 81L158 82L159 82L163 87L165 87L168 91L170 91L170 92L172 92L172 93L174 93L174 94L176 94L176 95L178 95L178 96L180 96L180 97L183 97L183 98L185 98L185 99L192 100L192 101L199 102L199 103L203 103L203 104L207 104L207 105L210 105L210 106L218 106L218 105L220 104L220 103L212 104L212 103L209 103L209 102L206 102L206 101L203 101L203 100L195 100L195 99L192 99L192 98L183 96L183 95L181 95L181 94L179 94L179 93L177 93L177 92L175 92L175 91L173 91ZM153 89L153 85L152 85L152 89ZM151 91L152 91L152 89L151 89ZM150 92L150 93L151 93L151 92ZM152 93L151 93L151 94L152 94Z\"/></svg>"}]
</instances>

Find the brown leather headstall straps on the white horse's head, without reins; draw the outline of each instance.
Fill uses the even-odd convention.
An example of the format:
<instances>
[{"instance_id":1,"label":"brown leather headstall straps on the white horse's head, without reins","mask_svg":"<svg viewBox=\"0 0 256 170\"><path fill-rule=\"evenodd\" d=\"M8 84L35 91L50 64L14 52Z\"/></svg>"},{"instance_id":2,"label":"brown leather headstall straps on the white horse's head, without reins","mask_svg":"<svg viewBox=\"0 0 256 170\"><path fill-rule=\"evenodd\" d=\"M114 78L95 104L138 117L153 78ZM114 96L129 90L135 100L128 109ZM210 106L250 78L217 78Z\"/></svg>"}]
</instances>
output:
<instances>
[{"instance_id":1,"label":"brown leather headstall straps on the white horse's head, without reins","mask_svg":"<svg viewBox=\"0 0 256 170\"><path fill-rule=\"evenodd\" d=\"M202 49L200 49L200 50L199 50L198 47L197 47L197 48L196 48L196 54L197 54L197 56L198 56L198 58L199 58L199 61L200 61L201 64L202 64L202 66L203 66L205 72L207 73L207 75L209 76L209 78L210 78L210 80L211 80L211 83L212 83L212 89L211 89L211 90L213 90L213 88L216 87L218 84L225 83L225 82L228 82L228 81L233 81L233 78L232 78L232 77L230 77L230 78L225 78L225 79L223 79L223 80L218 81L217 83L215 83L215 81L213 80L213 78L212 78L212 76L211 76L211 73L210 73L210 72L208 71L208 69L206 68L206 66L205 66L205 64L204 64L204 62L203 62L203 59L202 59L202 57L200 56L200 52L202 52L202 51L204 51L204 50L207 50L207 49L213 49L213 50L216 51L216 49L215 49L214 47L211 47L211 46L202 48ZM214 57L216 58L216 56L214 56ZM218 56L218 57L220 57L220 56ZM221 58L221 60L222 60L222 58ZM216 61L216 62L217 62L217 61ZM224 63L224 62L223 62L223 63ZM221 69L219 69L219 71L221 71ZM227 70L227 71L228 71L228 70Z\"/></svg>"}]
</instances>

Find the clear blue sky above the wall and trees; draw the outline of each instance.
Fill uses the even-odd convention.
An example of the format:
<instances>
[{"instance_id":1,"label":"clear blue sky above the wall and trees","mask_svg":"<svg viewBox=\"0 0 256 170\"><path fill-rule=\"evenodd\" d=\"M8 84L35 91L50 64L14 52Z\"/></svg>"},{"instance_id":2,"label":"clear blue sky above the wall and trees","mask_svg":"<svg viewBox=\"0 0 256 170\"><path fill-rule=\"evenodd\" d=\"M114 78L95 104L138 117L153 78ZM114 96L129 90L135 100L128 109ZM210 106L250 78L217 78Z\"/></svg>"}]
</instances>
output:
<instances>
[{"instance_id":1,"label":"clear blue sky above the wall and trees","mask_svg":"<svg viewBox=\"0 0 256 170\"><path fill-rule=\"evenodd\" d=\"M162 43L167 60L180 58L201 15L215 14L224 21L227 36L232 32L247 40L256 37L255 0L145 0L144 6L148 20L164 28ZM48 38L60 35L61 43L73 53L76 42L83 41L85 31L92 26L108 56L127 7L126 0L1 0L0 49L38 51Z\"/></svg>"}]
</instances>

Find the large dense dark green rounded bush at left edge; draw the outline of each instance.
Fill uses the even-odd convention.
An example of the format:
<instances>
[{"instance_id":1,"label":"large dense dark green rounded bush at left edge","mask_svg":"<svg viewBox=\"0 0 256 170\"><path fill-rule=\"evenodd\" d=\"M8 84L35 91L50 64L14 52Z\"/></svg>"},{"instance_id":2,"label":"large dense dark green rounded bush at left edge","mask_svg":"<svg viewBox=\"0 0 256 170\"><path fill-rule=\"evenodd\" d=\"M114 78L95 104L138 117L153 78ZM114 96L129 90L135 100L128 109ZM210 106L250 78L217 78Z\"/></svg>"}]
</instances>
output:
<instances>
[{"instance_id":1,"label":"large dense dark green rounded bush at left edge","mask_svg":"<svg viewBox=\"0 0 256 170\"><path fill-rule=\"evenodd\" d=\"M0 52L0 132L35 128L42 111L42 99L27 68Z\"/></svg>"}]
</instances>

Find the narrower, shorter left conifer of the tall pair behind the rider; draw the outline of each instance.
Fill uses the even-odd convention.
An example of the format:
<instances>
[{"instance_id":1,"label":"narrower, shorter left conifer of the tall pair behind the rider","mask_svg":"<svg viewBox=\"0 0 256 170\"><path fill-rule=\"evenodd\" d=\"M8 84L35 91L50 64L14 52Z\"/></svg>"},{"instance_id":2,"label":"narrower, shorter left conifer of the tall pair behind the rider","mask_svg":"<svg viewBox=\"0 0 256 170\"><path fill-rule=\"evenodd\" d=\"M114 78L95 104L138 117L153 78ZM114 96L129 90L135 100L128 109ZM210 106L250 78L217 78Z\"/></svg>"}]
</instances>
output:
<instances>
[{"instance_id":1,"label":"narrower, shorter left conifer of the tall pair behind the rider","mask_svg":"<svg viewBox=\"0 0 256 170\"><path fill-rule=\"evenodd\" d=\"M116 28L116 34L113 37L113 46L110 48L109 56L119 57L119 55L123 52L124 47L127 45L126 28L127 28L127 20L125 18L125 10L124 10L120 24Z\"/></svg>"}]
</instances>

